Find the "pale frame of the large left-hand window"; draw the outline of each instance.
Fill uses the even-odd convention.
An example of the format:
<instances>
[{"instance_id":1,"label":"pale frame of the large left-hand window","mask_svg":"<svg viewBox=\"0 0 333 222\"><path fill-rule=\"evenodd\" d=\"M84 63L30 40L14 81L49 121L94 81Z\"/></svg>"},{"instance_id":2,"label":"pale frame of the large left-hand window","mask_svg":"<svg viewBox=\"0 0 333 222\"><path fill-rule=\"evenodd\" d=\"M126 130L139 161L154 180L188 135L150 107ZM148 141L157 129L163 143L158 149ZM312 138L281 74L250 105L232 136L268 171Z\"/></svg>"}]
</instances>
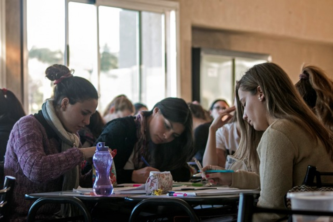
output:
<instances>
[{"instance_id":1,"label":"pale frame of the large left-hand window","mask_svg":"<svg viewBox=\"0 0 333 222\"><path fill-rule=\"evenodd\" d=\"M166 0L65 0L65 46L64 46L64 64L68 66L68 49L69 49L69 16L68 16L68 4L69 2L78 2L78 3L86 3L92 4L96 6L97 10L97 73L100 75L100 44L99 44L99 6L108 6L108 7L117 7L123 8L127 10L137 10L137 11L149 11L149 12L156 12L156 13L163 13L165 15L165 32L164 32L164 47L165 47L165 97L179 97L180 96L180 48L179 48L179 3L166 1ZM23 54L24 56L24 101L25 101L25 109L28 110L28 49L27 49L27 16L26 16L26 5L27 0L23 1ZM171 36L170 34L170 14L171 11L174 11L174 18L175 18L175 35ZM2 13L1 13L2 14ZM170 50L170 42L169 36L174 39L175 46L173 46L175 50L175 54ZM172 49L172 50L173 50ZM173 51L174 51L173 50ZM172 58L173 71L171 70L170 60ZM175 59L173 59L175 58ZM172 71L172 73L171 73ZM141 77L140 77L141 78ZM142 85L142 83L140 83ZM100 88L100 85L98 85ZM97 89L100 91L100 89ZM140 100L141 98L140 91Z\"/></svg>"}]
</instances>

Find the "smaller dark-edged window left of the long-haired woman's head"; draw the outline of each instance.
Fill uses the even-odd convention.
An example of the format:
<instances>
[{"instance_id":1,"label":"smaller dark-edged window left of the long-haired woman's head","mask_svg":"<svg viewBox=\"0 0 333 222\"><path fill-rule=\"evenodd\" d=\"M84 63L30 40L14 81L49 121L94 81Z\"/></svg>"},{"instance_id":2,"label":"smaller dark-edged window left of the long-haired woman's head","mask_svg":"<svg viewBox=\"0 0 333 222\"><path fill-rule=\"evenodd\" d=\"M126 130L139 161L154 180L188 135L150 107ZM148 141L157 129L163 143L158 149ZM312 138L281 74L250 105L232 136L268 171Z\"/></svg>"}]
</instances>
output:
<instances>
[{"instance_id":1,"label":"smaller dark-edged window left of the long-haired woman's head","mask_svg":"<svg viewBox=\"0 0 333 222\"><path fill-rule=\"evenodd\" d=\"M271 61L266 54L192 48L192 97L205 109L216 99L233 104L235 83L250 67Z\"/></svg>"}]
</instances>

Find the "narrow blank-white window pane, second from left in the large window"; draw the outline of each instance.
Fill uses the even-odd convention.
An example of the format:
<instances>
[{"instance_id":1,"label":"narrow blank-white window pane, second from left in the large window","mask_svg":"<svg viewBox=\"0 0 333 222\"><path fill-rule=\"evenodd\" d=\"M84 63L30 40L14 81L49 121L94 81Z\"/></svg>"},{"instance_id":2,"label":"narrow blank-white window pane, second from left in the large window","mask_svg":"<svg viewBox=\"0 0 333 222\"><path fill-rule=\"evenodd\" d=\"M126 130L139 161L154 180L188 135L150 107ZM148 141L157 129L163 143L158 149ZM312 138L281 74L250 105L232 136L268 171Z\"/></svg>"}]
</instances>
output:
<instances>
[{"instance_id":1,"label":"narrow blank-white window pane, second from left in the large window","mask_svg":"<svg viewBox=\"0 0 333 222\"><path fill-rule=\"evenodd\" d=\"M98 89L96 6L68 4L69 68Z\"/></svg>"}]
</instances>

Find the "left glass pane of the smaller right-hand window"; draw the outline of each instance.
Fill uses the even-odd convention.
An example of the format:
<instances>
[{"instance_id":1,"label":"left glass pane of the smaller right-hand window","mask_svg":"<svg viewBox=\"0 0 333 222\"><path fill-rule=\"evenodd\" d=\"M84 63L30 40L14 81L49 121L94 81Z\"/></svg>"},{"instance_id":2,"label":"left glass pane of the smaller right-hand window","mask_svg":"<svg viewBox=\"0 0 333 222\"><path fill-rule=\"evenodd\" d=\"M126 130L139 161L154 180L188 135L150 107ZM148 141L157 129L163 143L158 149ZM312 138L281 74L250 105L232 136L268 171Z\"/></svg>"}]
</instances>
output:
<instances>
[{"instance_id":1,"label":"left glass pane of the smaller right-hand window","mask_svg":"<svg viewBox=\"0 0 333 222\"><path fill-rule=\"evenodd\" d=\"M232 59L202 55L200 66L200 104L209 109L216 99L232 104Z\"/></svg>"}]
</instances>

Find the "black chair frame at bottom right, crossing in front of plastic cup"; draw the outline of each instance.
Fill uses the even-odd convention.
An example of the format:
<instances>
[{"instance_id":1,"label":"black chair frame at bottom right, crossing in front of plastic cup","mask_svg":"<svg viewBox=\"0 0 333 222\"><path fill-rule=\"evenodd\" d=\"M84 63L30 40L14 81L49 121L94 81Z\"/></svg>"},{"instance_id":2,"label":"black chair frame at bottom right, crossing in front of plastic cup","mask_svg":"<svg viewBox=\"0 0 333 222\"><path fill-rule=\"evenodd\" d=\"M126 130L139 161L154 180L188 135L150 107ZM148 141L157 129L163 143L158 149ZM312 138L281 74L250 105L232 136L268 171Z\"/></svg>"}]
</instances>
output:
<instances>
[{"instance_id":1,"label":"black chair frame at bottom right, crossing in front of plastic cup","mask_svg":"<svg viewBox=\"0 0 333 222\"><path fill-rule=\"evenodd\" d=\"M252 221L253 214L256 213L275 213L281 215L313 215L313 216L333 216L333 212L326 211L309 211L309 210L288 210L278 208L265 208L257 207L254 203L254 197L252 194L241 193L239 196L239 208L237 222L250 222ZM287 219L284 218L284 219Z\"/></svg>"}]
</instances>

